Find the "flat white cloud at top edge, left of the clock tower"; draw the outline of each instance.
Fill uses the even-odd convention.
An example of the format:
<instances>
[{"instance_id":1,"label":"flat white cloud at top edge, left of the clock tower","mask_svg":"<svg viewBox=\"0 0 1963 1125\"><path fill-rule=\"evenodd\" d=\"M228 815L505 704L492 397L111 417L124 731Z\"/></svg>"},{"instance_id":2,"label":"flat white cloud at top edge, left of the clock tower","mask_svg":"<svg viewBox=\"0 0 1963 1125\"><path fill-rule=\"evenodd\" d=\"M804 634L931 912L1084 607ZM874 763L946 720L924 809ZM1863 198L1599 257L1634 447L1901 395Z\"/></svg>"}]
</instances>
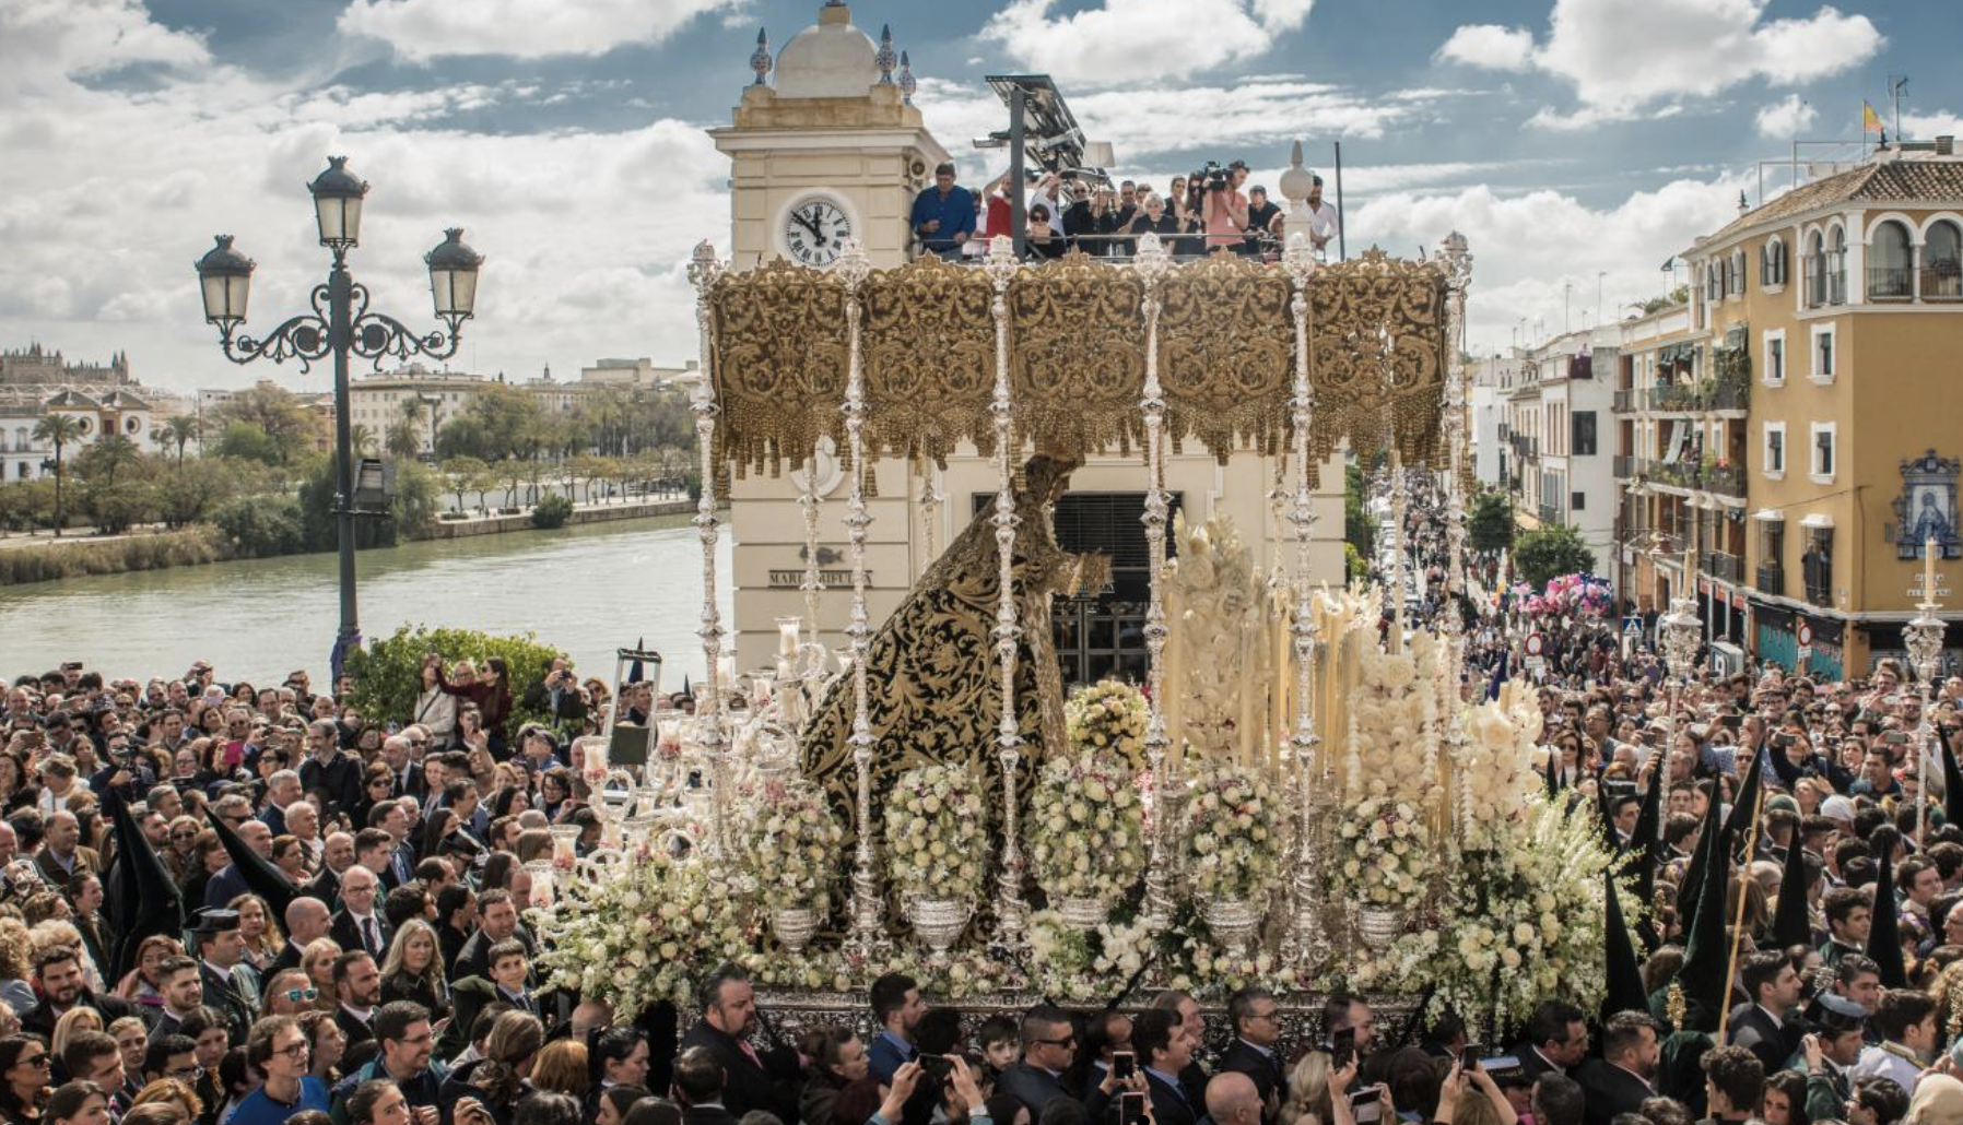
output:
<instances>
[{"instance_id":1,"label":"flat white cloud at top edge, left of the clock tower","mask_svg":"<svg viewBox=\"0 0 1963 1125\"><path fill-rule=\"evenodd\" d=\"M351 0L340 29L404 59L442 55L601 55L660 43L689 20L732 16L748 0Z\"/></svg>"}]
</instances>

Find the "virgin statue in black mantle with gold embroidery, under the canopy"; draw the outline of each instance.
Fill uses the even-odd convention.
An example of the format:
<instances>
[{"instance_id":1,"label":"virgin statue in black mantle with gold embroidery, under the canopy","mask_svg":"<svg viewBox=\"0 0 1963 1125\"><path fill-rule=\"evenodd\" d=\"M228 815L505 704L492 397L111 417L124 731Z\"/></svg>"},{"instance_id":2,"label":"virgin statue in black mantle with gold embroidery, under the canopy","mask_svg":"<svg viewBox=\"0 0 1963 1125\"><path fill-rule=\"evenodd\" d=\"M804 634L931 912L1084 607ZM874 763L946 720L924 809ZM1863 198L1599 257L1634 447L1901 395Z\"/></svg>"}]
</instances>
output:
<instances>
[{"instance_id":1,"label":"virgin statue in black mantle with gold embroidery, under the canopy","mask_svg":"<svg viewBox=\"0 0 1963 1125\"><path fill-rule=\"evenodd\" d=\"M1017 791L1046 754L1064 744L1064 685L1050 634L1050 599L1099 589L1109 573L1103 556L1072 556L1056 546L1046 509L1064 495L1074 459L1035 455L1015 487L1015 717L1023 736ZM970 766L1001 791L995 728L1001 721L1001 666L995 658L995 609L1001 554L995 546L995 507L983 505L948 546L907 601L874 634L866 656L866 715L872 746L872 829L893 779L928 762ZM852 764L852 677L840 675L805 726L805 777L824 787L846 829L846 852L856 842L858 772ZM991 832L1001 832L1001 809L991 803ZM877 836L875 836L877 838Z\"/></svg>"}]
</instances>

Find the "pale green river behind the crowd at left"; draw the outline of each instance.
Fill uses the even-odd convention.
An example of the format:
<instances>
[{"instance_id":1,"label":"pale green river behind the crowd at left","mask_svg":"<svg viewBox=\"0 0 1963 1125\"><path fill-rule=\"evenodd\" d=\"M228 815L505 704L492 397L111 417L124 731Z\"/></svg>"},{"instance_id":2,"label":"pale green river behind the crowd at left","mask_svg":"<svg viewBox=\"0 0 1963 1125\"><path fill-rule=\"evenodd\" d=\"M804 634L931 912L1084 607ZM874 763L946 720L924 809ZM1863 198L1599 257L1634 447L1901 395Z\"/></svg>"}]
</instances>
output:
<instances>
[{"instance_id":1,"label":"pale green river behind the crowd at left","mask_svg":"<svg viewBox=\"0 0 1963 1125\"><path fill-rule=\"evenodd\" d=\"M646 640L663 685L699 679L703 550L689 516L430 540L355 556L361 632L402 624L534 632L609 679L614 650ZM724 528L716 567L730 575ZM722 620L730 622L722 587ZM340 622L334 554L247 560L0 587L0 675L82 660L108 675L181 675L198 658L222 681L326 683Z\"/></svg>"}]
</instances>

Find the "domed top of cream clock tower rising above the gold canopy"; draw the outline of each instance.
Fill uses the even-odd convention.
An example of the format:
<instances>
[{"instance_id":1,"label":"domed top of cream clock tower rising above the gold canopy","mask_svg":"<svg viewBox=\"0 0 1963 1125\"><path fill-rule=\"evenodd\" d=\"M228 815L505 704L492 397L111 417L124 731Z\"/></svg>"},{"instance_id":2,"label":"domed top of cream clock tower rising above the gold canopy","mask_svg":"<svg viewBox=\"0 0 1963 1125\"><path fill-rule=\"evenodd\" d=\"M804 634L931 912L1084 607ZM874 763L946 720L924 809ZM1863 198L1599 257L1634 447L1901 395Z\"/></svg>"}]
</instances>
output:
<instances>
[{"instance_id":1,"label":"domed top of cream clock tower rising above the gold canopy","mask_svg":"<svg viewBox=\"0 0 1963 1125\"><path fill-rule=\"evenodd\" d=\"M901 265L913 196L948 153L893 82L891 47L832 0L775 63L758 43L752 69L734 122L709 132L730 157L730 267L824 267L846 238L875 267Z\"/></svg>"}]
</instances>

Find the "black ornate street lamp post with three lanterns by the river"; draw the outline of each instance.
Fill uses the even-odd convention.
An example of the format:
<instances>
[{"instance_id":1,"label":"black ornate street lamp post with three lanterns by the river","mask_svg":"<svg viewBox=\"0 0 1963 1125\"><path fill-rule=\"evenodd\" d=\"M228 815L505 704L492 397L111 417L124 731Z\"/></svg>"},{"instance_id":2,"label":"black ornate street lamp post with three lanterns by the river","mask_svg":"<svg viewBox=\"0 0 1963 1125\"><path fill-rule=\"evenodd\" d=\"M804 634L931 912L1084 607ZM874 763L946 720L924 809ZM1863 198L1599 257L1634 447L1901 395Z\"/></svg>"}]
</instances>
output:
<instances>
[{"instance_id":1,"label":"black ornate street lamp post with three lanterns by the river","mask_svg":"<svg viewBox=\"0 0 1963 1125\"><path fill-rule=\"evenodd\" d=\"M450 359L457 353L459 328L477 304L477 269L483 255L463 245L463 230L451 228L444 241L424 255L430 267L430 295L444 328L428 334L412 332L400 320L369 310L369 293L347 273L347 251L361 243L361 202L369 185L347 171L347 157L328 157L328 169L306 185L314 196L314 220L320 245L334 255L328 281L312 293L312 312L289 318L263 338L238 332L245 322L245 298L255 263L232 247L232 236L220 234L218 245L198 259L198 289L204 296L204 320L218 326L218 342L226 359L251 363L298 359L300 371L334 355L334 516L340 540L342 624L334 640L334 666L340 670L347 648L361 642L355 613L355 509L353 436L347 406L347 355L371 359L375 367L389 355L408 359L426 355Z\"/></svg>"}]
</instances>

